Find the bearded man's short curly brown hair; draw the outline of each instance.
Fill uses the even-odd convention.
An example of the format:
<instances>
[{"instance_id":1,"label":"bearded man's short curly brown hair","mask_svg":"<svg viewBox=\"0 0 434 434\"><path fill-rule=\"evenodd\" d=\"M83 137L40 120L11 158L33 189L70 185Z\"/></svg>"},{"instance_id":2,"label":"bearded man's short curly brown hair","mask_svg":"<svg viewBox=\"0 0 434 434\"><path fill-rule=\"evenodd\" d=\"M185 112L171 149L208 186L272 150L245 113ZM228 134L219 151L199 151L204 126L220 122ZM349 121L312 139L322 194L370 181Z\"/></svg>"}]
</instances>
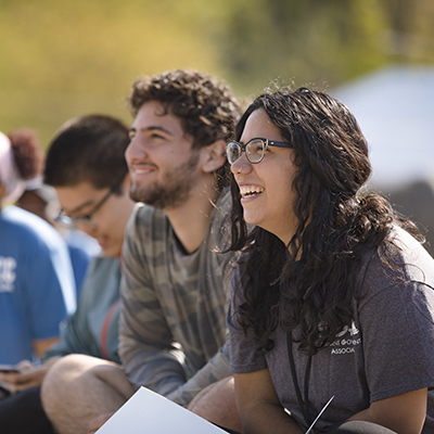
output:
<instances>
[{"instance_id":1,"label":"bearded man's short curly brown hair","mask_svg":"<svg viewBox=\"0 0 434 434\"><path fill-rule=\"evenodd\" d=\"M229 86L193 69L173 69L136 80L128 99L131 114L137 116L149 101L161 102L166 113L178 116L196 149L216 140L228 141L241 115ZM228 163L216 171L218 190L227 183L228 173Z\"/></svg>"}]
</instances>

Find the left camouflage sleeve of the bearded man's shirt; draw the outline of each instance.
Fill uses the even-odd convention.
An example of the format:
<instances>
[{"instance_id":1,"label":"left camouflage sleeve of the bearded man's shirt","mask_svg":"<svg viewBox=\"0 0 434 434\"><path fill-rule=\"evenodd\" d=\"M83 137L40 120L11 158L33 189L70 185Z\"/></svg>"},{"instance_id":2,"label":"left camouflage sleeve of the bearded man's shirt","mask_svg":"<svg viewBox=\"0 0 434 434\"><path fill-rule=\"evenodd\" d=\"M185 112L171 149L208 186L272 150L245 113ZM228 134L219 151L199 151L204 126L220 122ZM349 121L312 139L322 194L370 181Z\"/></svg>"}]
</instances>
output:
<instances>
[{"instance_id":1,"label":"left camouflage sleeve of the bearded man's shirt","mask_svg":"<svg viewBox=\"0 0 434 434\"><path fill-rule=\"evenodd\" d=\"M183 354L174 344L153 291L149 265L139 248L146 241L136 230L137 218L133 213L123 248L119 356L132 384L167 396L186 382Z\"/></svg>"}]
</instances>

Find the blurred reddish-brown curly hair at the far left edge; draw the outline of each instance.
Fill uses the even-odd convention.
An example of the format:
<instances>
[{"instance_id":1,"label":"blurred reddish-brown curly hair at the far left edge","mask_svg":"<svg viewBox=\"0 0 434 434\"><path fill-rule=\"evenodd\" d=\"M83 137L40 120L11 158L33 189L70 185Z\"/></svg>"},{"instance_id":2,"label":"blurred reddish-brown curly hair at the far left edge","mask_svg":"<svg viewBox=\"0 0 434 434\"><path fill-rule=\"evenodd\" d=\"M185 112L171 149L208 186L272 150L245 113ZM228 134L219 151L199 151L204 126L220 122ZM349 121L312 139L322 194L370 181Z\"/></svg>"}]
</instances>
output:
<instances>
[{"instance_id":1,"label":"blurred reddish-brown curly hair at the far left edge","mask_svg":"<svg viewBox=\"0 0 434 434\"><path fill-rule=\"evenodd\" d=\"M37 132L29 128L20 128L9 132L8 137L20 177L27 180L40 175L44 156Z\"/></svg>"}]
</instances>

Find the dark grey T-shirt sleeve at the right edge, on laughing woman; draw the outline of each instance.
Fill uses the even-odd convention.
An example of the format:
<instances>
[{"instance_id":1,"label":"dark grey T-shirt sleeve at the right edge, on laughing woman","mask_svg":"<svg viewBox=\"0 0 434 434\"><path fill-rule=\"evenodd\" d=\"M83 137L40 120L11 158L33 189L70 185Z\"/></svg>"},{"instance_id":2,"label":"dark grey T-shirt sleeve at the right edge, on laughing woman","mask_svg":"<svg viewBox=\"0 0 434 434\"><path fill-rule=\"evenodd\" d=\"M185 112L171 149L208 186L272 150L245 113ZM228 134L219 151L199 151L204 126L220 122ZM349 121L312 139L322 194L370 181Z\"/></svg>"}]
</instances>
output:
<instances>
[{"instance_id":1,"label":"dark grey T-shirt sleeve at the right edge, on laughing woman","mask_svg":"<svg viewBox=\"0 0 434 434\"><path fill-rule=\"evenodd\" d=\"M401 281L359 311L370 401L434 386L434 291Z\"/></svg>"}]
</instances>

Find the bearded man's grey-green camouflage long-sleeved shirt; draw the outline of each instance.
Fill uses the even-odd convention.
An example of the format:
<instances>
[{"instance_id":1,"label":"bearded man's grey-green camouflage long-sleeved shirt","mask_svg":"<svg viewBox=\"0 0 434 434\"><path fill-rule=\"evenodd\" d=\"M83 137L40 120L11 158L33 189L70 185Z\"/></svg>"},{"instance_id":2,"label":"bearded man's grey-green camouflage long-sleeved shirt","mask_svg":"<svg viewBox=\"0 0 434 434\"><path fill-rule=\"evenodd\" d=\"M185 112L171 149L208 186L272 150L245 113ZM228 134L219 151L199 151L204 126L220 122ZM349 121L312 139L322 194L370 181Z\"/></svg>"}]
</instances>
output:
<instances>
[{"instance_id":1,"label":"bearded man's grey-green camouflage long-sleeved shirt","mask_svg":"<svg viewBox=\"0 0 434 434\"><path fill-rule=\"evenodd\" d=\"M183 406L208 384L230 375L225 276L234 255L216 251L230 237L229 207L226 192L202 245L191 254L161 209L138 204L126 230L120 358L133 384Z\"/></svg>"}]
</instances>

